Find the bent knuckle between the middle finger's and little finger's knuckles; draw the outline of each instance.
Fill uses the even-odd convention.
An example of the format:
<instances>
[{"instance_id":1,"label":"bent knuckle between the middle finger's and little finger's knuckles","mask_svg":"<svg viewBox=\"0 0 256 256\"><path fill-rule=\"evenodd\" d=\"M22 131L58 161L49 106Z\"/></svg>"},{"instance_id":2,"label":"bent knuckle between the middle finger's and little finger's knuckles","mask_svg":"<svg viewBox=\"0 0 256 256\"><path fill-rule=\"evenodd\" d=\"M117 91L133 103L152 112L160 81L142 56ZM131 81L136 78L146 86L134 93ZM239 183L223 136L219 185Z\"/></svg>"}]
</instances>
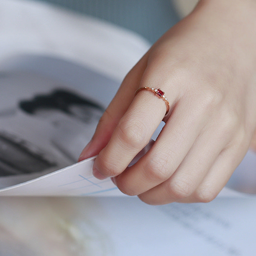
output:
<instances>
[{"instance_id":1,"label":"bent knuckle between the middle finger's and little finger's knuckles","mask_svg":"<svg viewBox=\"0 0 256 256\"><path fill-rule=\"evenodd\" d=\"M173 179L167 186L167 193L175 199L185 199L193 193L192 182L188 178Z\"/></svg>"}]
</instances>

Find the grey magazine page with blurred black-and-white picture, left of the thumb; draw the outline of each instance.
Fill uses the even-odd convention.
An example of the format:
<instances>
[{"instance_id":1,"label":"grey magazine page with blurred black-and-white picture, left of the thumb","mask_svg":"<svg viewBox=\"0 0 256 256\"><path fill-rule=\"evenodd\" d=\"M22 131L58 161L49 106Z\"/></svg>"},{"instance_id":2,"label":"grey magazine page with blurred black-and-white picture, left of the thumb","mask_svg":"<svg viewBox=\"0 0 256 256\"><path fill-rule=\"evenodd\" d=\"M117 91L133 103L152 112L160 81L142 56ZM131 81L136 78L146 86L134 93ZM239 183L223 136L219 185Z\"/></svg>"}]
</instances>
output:
<instances>
[{"instance_id":1,"label":"grey magazine page with blurred black-and-white picture, left of the thumb","mask_svg":"<svg viewBox=\"0 0 256 256\"><path fill-rule=\"evenodd\" d=\"M1 71L0 188L77 162L105 109L90 93L116 83L86 71L87 79L77 85L17 68Z\"/></svg>"}]
</instances>

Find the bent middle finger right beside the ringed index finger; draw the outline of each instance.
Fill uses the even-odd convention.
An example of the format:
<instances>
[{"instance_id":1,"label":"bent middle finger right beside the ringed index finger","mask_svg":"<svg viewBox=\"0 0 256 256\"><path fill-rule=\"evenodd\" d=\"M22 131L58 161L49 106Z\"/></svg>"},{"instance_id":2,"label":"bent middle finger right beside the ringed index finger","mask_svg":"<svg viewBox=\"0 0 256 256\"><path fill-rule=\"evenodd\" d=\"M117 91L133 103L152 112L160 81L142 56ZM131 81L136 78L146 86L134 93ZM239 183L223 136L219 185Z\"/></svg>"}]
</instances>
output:
<instances>
[{"instance_id":1,"label":"bent middle finger right beside the ringed index finger","mask_svg":"<svg viewBox=\"0 0 256 256\"><path fill-rule=\"evenodd\" d=\"M172 176L206 122L201 111L192 113L191 109L187 100L180 100L154 146L136 164L114 178L123 193L141 194Z\"/></svg>"}]
</instances>

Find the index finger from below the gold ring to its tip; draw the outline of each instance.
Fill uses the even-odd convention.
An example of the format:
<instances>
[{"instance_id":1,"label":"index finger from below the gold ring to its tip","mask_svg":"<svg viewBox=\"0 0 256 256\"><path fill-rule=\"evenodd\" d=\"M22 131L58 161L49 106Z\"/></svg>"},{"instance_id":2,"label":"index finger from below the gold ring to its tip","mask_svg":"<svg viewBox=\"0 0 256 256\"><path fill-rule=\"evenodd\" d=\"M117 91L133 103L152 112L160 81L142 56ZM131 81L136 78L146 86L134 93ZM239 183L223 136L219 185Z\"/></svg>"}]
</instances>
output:
<instances>
[{"instance_id":1,"label":"index finger from below the gold ring to its tip","mask_svg":"<svg viewBox=\"0 0 256 256\"><path fill-rule=\"evenodd\" d=\"M113 177L123 172L144 148L166 112L164 100L153 92L140 91L120 119L107 146L95 159L93 174ZM153 114L152 114L153 113Z\"/></svg>"}]
</instances>

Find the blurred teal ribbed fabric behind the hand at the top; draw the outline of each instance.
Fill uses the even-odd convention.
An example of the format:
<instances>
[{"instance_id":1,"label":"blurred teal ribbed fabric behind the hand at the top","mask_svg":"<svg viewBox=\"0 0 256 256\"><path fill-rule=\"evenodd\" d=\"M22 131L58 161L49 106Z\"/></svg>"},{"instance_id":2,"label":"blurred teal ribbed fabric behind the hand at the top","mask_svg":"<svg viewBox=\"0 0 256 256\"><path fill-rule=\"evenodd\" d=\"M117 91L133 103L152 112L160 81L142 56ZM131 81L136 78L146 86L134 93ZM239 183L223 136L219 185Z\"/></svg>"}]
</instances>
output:
<instances>
[{"instance_id":1,"label":"blurred teal ribbed fabric behind the hand at the top","mask_svg":"<svg viewBox=\"0 0 256 256\"><path fill-rule=\"evenodd\" d=\"M155 42L179 17L171 0L37 0L66 7L135 31Z\"/></svg>"}]
</instances>

